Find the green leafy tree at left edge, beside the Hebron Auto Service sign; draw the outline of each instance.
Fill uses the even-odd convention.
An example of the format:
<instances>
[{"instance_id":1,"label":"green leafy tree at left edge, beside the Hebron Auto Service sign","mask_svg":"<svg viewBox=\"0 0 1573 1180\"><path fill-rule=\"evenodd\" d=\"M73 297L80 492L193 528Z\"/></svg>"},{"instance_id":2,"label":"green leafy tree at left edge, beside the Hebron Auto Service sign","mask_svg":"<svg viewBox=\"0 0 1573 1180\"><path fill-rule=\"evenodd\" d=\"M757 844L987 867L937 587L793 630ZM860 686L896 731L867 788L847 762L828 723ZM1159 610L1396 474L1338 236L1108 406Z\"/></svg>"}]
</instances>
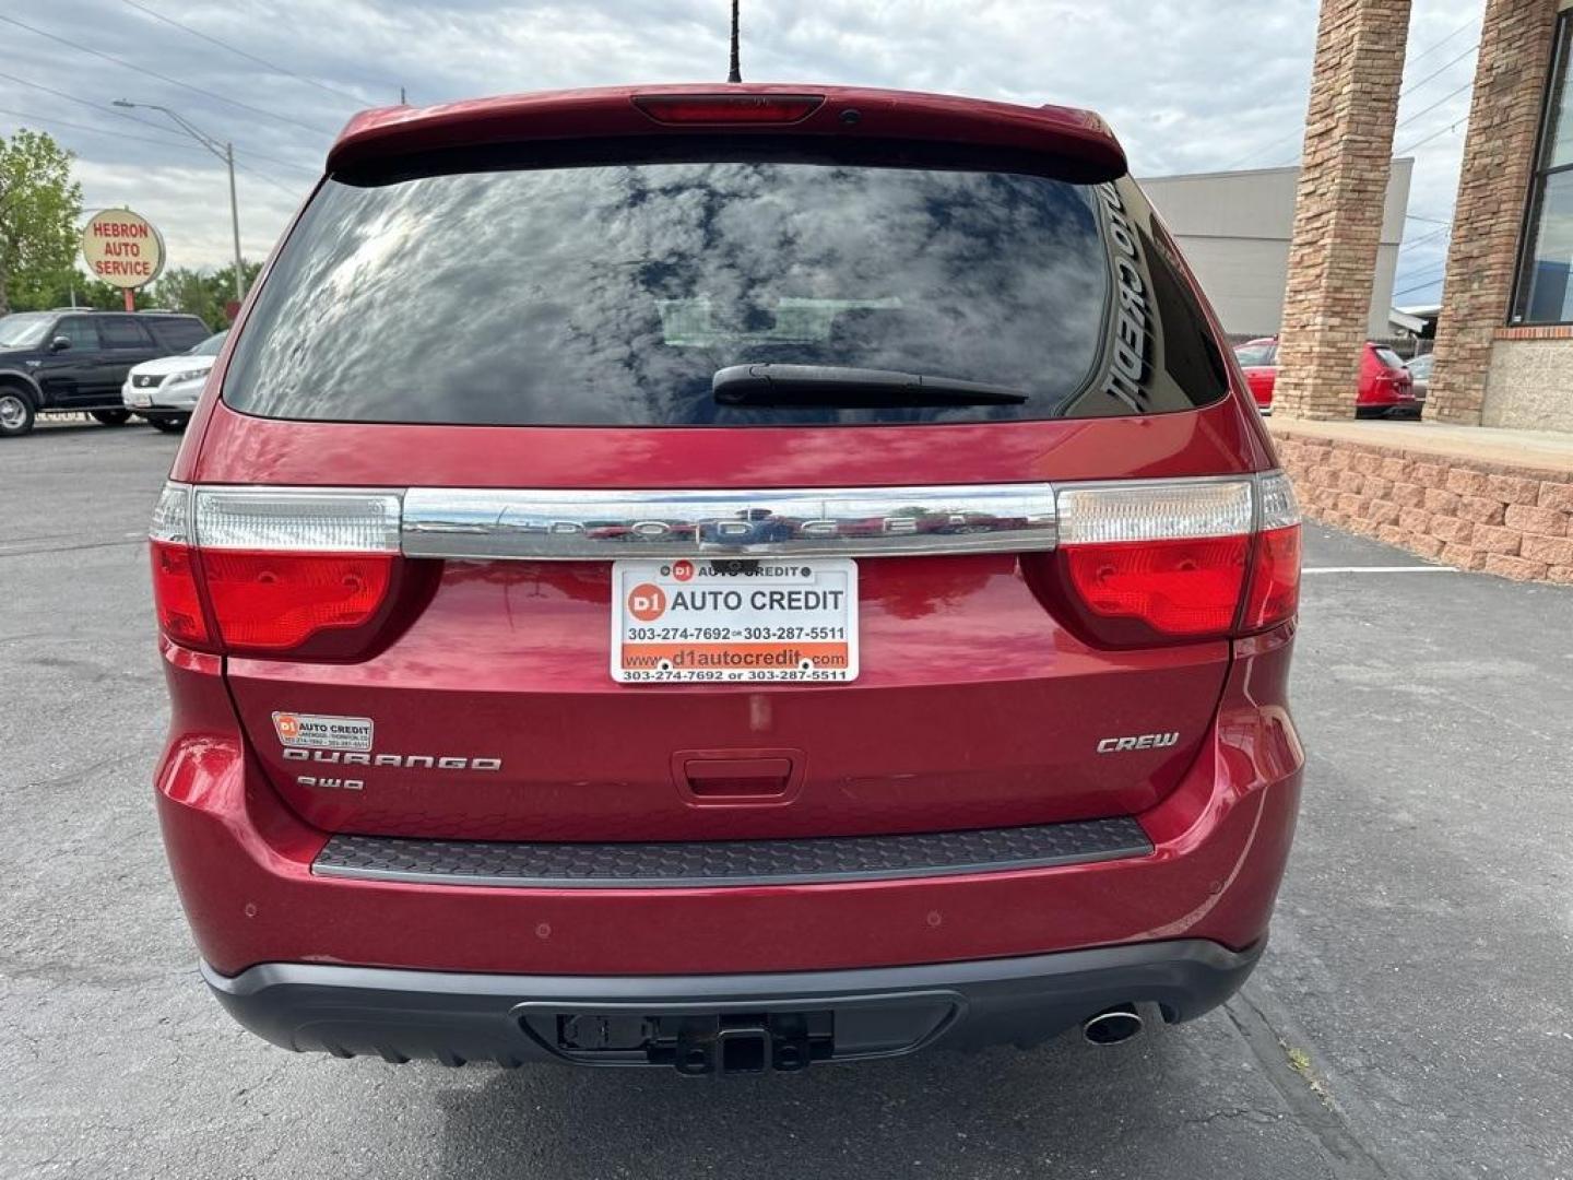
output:
<instances>
[{"instance_id":1,"label":"green leafy tree at left edge, beside the Hebron Auto Service sign","mask_svg":"<svg viewBox=\"0 0 1573 1180\"><path fill-rule=\"evenodd\" d=\"M52 307L52 294L69 286L82 217L74 159L39 131L0 137L0 315L13 304Z\"/></svg>"}]
</instances>

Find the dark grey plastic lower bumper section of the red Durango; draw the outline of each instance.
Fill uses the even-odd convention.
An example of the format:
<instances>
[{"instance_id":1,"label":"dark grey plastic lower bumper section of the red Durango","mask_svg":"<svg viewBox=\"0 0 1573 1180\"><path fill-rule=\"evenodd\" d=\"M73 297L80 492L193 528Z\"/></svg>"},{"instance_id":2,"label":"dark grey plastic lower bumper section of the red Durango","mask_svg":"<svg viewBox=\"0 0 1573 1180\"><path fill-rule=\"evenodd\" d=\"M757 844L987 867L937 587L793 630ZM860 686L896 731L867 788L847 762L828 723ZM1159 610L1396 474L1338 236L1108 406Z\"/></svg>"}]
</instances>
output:
<instances>
[{"instance_id":1,"label":"dark grey plastic lower bumper section of the red Durango","mask_svg":"<svg viewBox=\"0 0 1573 1180\"><path fill-rule=\"evenodd\" d=\"M264 963L234 977L204 963L203 975L241 1024L294 1051L445 1065L664 1065L673 1064L670 1048L587 1048L574 1040L580 1034L568 1032L584 1024L565 1021L653 1029L656 1018L670 1016L670 1026L687 1021L684 1027L695 1029L689 1053L705 1054L703 1065L684 1071L711 1073L725 1070L725 1056L714 1048L717 1018L735 1032L760 1029L761 1042L772 1040L769 1029L793 1027L794 1020L812 1026L820 1031L812 1056L821 1060L897 1057L930 1045L1030 1045L1117 1004L1155 1004L1166 1021L1192 1020L1229 999L1260 953L1260 944L1232 952L1186 939L974 963L749 975L486 975L300 963ZM774 1040L779 1046L780 1038ZM769 1060L763 1054L766 1067ZM807 1060L809 1054L794 1057L794 1064Z\"/></svg>"}]
</instances>

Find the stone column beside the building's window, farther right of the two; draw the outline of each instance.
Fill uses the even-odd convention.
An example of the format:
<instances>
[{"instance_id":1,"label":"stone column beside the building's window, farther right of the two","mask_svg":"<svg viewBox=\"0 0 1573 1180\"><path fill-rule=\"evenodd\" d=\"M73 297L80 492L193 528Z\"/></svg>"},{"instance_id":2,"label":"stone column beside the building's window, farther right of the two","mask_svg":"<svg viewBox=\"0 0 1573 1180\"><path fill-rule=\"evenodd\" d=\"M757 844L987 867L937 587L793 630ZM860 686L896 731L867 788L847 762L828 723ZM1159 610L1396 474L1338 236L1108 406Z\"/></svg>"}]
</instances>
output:
<instances>
[{"instance_id":1,"label":"stone column beside the building's window, farther right of the two","mask_svg":"<svg viewBox=\"0 0 1573 1180\"><path fill-rule=\"evenodd\" d=\"M1557 0L1488 0L1436 323L1425 417L1480 425L1491 338L1507 324L1535 167Z\"/></svg>"}]
</instances>

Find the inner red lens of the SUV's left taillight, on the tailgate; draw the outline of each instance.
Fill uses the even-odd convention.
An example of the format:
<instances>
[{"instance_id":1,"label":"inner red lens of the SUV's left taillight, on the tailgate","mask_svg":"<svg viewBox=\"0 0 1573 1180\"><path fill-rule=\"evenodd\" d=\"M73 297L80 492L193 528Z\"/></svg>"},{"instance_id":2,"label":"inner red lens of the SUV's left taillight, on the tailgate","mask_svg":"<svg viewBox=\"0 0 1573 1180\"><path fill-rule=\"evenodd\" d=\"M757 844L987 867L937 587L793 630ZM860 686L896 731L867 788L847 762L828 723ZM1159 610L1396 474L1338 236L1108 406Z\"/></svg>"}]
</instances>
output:
<instances>
[{"instance_id":1,"label":"inner red lens of the SUV's left taillight, on the tailgate","mask_svg":"<svg viewBox=\"0 0 1573 1180\"><path fill-rule=\"evenodd\" d=\"M204 552L203 584L228 651L278 653L376 618L392 554Z\"/></svg>"}]
</instances>

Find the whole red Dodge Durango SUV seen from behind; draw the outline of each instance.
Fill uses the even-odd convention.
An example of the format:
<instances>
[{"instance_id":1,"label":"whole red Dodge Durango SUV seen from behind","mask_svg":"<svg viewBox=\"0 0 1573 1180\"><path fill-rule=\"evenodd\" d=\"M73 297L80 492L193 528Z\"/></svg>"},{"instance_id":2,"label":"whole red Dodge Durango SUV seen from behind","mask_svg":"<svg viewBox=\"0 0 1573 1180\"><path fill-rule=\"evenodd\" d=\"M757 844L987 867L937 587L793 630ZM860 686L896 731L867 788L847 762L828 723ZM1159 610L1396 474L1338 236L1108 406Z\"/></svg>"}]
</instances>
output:
<instances>
[{"instance_id":1,"label":"whole red Dodge Durango SUV seen from behind","mask_svg":"<svg viewBox=\"0 0 1573 1180\"><path fill-rule=\"evenodd\" d=\"M1115 1042L1262 953L1299 518L1095 115L360 115L151 537L164 839L277 1045Z\"/></svg>"}]
</instances>

